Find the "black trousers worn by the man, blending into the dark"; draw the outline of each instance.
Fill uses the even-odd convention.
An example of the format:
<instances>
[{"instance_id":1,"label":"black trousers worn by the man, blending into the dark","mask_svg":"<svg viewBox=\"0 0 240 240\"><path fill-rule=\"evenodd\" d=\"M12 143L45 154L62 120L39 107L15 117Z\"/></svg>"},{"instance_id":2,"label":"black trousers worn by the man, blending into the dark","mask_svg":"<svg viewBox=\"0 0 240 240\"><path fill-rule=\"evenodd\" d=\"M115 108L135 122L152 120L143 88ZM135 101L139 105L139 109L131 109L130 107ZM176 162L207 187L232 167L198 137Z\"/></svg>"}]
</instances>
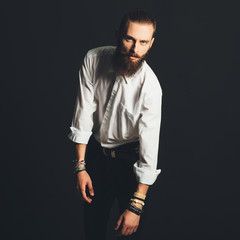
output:
<instances>
[{"instance_id":1,"label":"black trousers worn by the man, blending into the dark","mask_svg":"<svg viewBox=\"0 0 240 240\"><path fill-rule=\"evenodd\" d=\"M136 145L136 144L135 144ZM129 203L136 191L137 180L133 172L133 164L139 154L136 146L129 146L116 151L116 158L105 156L103 149L96 140L91 139L87 151L87 171L92 179L95 196L91 204L85 203L84 221L87 240L105 240L109 213L117 199L119 216ZM141 216L142 222L143 215ZM140 224L141 225L141 224ZM137 233L118 239L140 239Z\"/></svg>"}]
</instances>

